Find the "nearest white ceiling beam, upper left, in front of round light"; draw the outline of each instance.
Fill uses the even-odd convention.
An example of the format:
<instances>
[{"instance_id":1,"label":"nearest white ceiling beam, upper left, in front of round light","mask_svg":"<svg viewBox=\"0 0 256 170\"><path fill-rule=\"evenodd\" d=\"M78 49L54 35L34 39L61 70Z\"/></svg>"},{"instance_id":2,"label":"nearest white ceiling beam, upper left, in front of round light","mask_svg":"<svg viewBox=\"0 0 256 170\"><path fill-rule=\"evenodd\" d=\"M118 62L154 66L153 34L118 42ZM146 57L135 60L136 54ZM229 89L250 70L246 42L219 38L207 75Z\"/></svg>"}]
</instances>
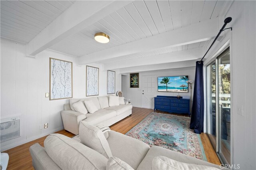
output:
<instances>
[{"instance_id":1,"label":"nearest white ceiling beam, upper left, in front of round light","mask_svg":"<svg viewBox=\"0 0 256 170\"><path fill-rule=\"evenodd\" d=\"M41 51L75 34L132 1L76 1L26 45L26 55Z\"/></svg>"}]
</instances>

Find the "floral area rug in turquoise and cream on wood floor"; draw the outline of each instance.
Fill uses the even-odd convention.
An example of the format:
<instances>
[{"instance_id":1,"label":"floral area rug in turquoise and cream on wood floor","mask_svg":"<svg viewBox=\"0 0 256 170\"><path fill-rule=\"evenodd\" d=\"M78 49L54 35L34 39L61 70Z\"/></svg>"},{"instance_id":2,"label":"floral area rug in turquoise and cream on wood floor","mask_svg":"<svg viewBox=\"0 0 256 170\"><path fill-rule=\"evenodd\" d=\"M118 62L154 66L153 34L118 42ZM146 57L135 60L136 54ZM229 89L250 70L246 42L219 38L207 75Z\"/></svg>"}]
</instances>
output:
<instances>
[{"instance_id":1,"label":"floral area rug in turquoise and cream on wood floor","mask_svg":"<svg viewBox=\"0 0 256 170\"><path fill-rule=\"evenodd\" d=\"M200 135L189 126L189 117L150 113L126 135L207 161Z\"/></svg>"}]
</instances>

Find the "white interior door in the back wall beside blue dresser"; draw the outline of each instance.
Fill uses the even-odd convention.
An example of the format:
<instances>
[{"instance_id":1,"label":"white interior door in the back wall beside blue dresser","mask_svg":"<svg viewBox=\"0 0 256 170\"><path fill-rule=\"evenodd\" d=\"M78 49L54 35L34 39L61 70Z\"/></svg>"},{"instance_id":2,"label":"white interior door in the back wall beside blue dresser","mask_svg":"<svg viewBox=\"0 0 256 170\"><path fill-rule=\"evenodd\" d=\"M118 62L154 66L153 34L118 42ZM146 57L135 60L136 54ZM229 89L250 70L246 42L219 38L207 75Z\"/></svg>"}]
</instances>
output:
<instances>
[{"instance_id":1,"label":"white interior door in the back wall beside blue dresser","mask_svg":"<svg viewBox=\"0 0 256 170\"><path fill-rule=\"evenodd\" d=\"M142 76L142 108L154 109L154 97L156 97L157 76Z\"/></svg>"}]
</instances>

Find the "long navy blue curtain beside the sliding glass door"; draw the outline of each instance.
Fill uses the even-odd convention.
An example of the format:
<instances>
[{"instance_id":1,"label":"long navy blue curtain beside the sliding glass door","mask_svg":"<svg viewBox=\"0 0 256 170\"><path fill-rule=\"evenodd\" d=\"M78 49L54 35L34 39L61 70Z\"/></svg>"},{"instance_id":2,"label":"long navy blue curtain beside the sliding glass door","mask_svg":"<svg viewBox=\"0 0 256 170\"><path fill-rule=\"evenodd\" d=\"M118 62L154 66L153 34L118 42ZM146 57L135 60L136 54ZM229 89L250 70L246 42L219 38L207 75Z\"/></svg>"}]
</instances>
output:
<instances>
[{"instance_id":1,"label":"long navy blue curtain beside the sliding glass door","mask_svg":"<svg viewBox=\"0 0 256 170\"><path fill-rule=\"evenodd\" d=\"M196 61L194 97L191 110L190 128L200 134L204 131L204 70L203 61Z\"/></svg>"}]
</instances>

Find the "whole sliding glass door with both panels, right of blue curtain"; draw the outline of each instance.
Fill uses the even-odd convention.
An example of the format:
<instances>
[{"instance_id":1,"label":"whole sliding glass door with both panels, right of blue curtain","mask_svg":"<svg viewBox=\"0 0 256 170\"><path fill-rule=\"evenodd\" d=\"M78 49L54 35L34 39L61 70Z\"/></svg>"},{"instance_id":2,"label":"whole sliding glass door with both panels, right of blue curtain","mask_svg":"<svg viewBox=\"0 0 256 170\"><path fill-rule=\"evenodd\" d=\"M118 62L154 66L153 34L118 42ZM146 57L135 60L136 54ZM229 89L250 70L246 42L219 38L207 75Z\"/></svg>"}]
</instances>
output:
<instances>
[{"instance_id":1,"label":"whole sliding glass door with both panels, right of blue curtain","mask_svg":"<svg viewBox=\"0 0 256 170\"><path fill-rule=\"evenodd\" d=\"M225 164L230 164L230 50L207 66L207 133Z\"/></svg>"}]
</instances>

